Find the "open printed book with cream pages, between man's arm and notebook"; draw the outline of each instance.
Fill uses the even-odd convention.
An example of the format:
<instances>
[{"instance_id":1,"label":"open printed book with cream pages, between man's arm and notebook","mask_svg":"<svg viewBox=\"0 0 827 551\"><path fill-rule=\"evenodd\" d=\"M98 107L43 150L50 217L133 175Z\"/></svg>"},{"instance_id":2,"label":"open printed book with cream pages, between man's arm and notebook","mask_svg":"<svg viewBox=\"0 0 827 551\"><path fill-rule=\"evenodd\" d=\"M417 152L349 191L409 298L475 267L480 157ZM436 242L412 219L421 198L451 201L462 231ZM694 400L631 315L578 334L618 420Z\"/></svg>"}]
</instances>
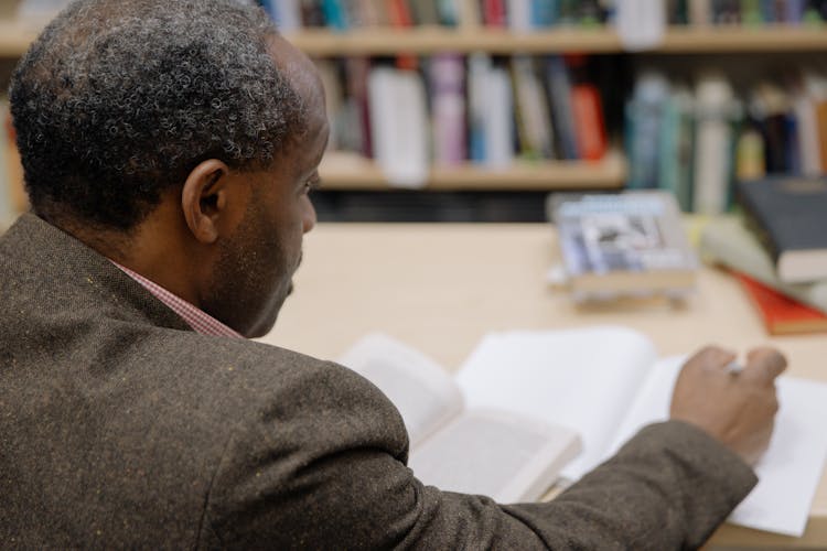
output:
<instances>
[{"instance_id":1,"label":"open printed book with cream pages, between man's arm and notebook","mask_svg":"<svg viewBox=\"0 0 827 551\"><path fill-rule=\"evenodd\" d=\"M410 437L408 465L426 484L501 503L531 501L580 451L570 429L507 408L466 409L442 368L388 336L366 336L341 363L397 407Z\"/></svg>"}]
</instances>

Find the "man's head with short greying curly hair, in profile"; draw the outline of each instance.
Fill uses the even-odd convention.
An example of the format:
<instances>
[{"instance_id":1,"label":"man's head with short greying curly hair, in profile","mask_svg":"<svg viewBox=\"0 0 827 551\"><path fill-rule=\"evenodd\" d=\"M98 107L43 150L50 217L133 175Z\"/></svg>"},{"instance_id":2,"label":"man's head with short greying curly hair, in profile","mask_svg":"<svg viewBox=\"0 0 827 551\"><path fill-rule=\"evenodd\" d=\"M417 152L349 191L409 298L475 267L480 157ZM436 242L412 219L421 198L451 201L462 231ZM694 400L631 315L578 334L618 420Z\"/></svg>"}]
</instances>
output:
<instances>
[{"instance_id":1,"label":"man's head with short greying curly hair, in profile","mask_svg":"<svg viewBox=\"0 0 827 551\"><path fill-rule=\"evenodd\" d=\"M268 331L326 143L309 60L235 0L79 0L21 60L37 215L245 335Z\"/></svg>"}]
</instances>

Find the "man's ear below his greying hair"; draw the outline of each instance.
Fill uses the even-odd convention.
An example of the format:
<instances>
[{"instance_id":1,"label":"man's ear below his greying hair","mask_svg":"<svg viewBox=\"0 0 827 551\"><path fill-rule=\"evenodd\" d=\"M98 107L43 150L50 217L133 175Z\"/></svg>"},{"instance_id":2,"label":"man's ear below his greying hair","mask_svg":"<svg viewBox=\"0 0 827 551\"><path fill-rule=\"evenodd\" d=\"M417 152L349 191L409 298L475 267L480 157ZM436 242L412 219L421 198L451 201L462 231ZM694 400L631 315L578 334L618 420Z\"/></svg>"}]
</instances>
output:
<instances>
[{"instance_id":1,"label":"man's ear below his greying hair","mask_svg":"<svg viewBox=\"0 0 827 551\"><path fill-rule=\"evenodd\" d=\"M222 215L228 206L229 168L217 159L202 162L186 177L181 208L193 237L203 244L218 239Z\"/></svg>"}]
</instances>

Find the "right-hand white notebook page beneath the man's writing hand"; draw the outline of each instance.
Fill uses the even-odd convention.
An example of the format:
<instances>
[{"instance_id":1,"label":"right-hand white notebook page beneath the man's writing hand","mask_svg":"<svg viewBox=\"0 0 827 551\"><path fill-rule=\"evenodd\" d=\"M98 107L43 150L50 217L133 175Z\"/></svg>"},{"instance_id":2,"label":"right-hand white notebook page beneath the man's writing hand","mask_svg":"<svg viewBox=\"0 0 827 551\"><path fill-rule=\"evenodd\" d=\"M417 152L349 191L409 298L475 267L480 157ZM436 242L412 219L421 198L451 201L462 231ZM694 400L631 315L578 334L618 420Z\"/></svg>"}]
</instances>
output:
<instances>
[{"instance_id":1,"label":"right-hand white notebook page beneath the man's writing hand","mask_svg":"<svg viewBox=\"0 0 827 551\"><path fill-rule=\"evenodd\" d=\"M613 446L616 450L644 425L669 414L669 400L685 357L657 363L630 410ZM755 466L759 484L729 518L737 525L799 537L827 458L827 385L781 377L781 409L770 449Z\"/></svg>"}]
</instances>

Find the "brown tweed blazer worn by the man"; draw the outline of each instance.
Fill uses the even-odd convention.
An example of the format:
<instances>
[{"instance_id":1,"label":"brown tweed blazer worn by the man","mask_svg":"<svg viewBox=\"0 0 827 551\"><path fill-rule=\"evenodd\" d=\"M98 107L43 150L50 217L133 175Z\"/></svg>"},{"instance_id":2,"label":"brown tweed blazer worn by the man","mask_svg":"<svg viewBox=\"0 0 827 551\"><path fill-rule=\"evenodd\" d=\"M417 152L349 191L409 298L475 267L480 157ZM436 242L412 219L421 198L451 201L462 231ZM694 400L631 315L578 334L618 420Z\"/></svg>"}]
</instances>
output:
<instances>
[{"instance_id":1,"label":"brown tweed blazer worn by the man","mask_svg":"<svg viewBox=\"0 0 827 551\"><path fill-rule=\"evenodd\" d=\"M754 484L652 425L550 504L423 487L332 363L190 331L33 215L0 238L0 548L681 549Z\"/></svg>"}]
</instances>

